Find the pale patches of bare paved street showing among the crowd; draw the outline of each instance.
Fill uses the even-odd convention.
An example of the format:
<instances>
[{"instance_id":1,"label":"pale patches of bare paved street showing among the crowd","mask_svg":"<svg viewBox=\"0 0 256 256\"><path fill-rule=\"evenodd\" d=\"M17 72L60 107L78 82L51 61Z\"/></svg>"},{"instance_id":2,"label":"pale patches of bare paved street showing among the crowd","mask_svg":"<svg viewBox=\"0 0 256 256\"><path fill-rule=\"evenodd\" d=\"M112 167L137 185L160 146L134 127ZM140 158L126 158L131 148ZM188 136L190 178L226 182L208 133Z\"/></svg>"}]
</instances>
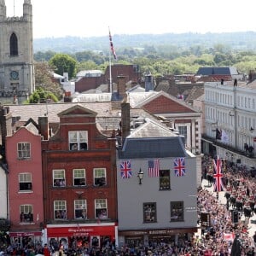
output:
<instances>
[{"instance_id":1,"label":"pale patches of bare paved street showing among the crowd","mask_svg":"<svg viewBox=\"0 0 256 256\"><path fill-rule=\"evenodd\" d=\"M213 185L211 187L208 187L208 182L207 180L202 181L202 188L209 190L210 192L213 193ZM219 192L218 193L218 202L219 204L224 204L226 205L226 198L224 197L225 192ZM230 207L231 209L231 207ZM240 221L247 221L248 222L248 236L253 236L254 232L256 231L256 214L253 215L249 220L245 219L244 214L241 216ZM199 229L198 233L196 234L201 237L201 230Z\"/></svg>"}]
</instances>

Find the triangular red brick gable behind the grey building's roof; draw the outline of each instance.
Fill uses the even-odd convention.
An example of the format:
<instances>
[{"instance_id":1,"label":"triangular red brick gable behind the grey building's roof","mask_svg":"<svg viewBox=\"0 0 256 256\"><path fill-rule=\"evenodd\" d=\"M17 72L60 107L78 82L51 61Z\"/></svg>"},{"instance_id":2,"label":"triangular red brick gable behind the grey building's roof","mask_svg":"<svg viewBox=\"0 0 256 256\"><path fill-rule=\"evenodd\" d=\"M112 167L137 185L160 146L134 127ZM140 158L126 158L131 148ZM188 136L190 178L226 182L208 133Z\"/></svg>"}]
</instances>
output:
<instances>
[{"instance_id":1,"label":"triangular red brick gable behind the grey building's roof","mask_svg":"<svg viewBox=\"0 0 256 256\"><path fill-rule=\"evenodd\" d=\"M173 101L166 96L158 96L152 101L143 105L143 108L150 113L194 113L191 108L184 106L183 104Z\"/></svg>"}]
</instances>

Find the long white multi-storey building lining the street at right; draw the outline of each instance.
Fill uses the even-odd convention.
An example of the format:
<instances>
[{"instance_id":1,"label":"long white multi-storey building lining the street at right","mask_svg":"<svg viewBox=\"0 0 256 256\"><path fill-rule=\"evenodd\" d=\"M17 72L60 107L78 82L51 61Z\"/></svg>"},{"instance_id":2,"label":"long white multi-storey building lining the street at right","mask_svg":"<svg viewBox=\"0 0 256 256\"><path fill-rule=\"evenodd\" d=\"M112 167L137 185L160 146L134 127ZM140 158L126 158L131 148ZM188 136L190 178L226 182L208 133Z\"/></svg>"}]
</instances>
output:
<instances>
[{"instance_id":1,"label":"long white multi-storey building lining the street at right","mask_svg":"<svg viewBox=\"0 0 256 256\"><path fill-rule=\"evenodd\" d=\"M203 152L255 166L256 81L236 83L205 83Z\"/></svg>"}]
</instances>

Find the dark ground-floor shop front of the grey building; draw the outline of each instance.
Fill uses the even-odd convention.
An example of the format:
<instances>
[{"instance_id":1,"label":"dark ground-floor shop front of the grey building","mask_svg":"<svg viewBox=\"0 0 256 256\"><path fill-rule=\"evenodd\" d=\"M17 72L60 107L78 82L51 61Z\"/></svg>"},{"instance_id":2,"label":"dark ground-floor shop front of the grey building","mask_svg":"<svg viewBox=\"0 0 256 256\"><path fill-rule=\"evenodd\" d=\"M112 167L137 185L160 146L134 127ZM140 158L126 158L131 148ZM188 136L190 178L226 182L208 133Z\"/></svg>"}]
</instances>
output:
<instances>
[{"instance_id":1,"label":"dark ground-floor shop front of the grey building","mask_svg":"<svg viewBox=\"0 0 256 256\"><path fill-rule=\"evenodd\" d=\"M160 243L177 243L186 241L197 232L197 228L159 229L159 230L119 230L119 247L140 245L153 246Z\"/></svg>"}]
</instances>

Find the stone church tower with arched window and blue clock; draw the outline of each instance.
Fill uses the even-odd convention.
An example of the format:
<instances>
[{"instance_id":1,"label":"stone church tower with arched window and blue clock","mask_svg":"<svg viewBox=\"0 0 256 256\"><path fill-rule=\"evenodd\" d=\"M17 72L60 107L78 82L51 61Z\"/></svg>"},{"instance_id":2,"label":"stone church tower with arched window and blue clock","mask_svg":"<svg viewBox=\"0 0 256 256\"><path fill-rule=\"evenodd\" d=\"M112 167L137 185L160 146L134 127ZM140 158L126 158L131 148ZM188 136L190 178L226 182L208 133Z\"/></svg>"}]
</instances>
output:
<instances>
[{"instance_id":1,"label":"stone church tower with arched window and blue clock","mask_svg":"<svg viewBox=\"0 0 256 256\"><path fill-rule=\"evenodd\" d=\"M0 97L23 98L34 87L32 4L24 0L23 16L7 17L0 0Z\"/></svg>"}]
</instances>

